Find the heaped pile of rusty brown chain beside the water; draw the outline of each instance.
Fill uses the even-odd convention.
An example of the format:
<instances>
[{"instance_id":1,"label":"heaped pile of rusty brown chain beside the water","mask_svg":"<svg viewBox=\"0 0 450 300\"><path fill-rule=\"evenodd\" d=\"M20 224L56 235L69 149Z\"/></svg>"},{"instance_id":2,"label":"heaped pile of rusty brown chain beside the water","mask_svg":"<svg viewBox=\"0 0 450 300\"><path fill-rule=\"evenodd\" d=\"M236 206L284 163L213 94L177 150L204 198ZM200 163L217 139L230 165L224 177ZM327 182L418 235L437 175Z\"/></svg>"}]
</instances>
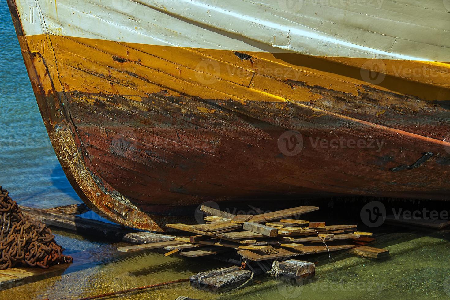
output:
<instances>
[{"instance_id":1,"label":"heaped pile of rusty brown chain beside the water","mask_svg":"<svg viewBox=\"0 0 450 300\"><path fill-rule=\"evenodd\" d=\"M48 269L71 263L51 230L22 214L16 201L0 186L0 270L15 266Z\"/></svg>"}]
</instances>

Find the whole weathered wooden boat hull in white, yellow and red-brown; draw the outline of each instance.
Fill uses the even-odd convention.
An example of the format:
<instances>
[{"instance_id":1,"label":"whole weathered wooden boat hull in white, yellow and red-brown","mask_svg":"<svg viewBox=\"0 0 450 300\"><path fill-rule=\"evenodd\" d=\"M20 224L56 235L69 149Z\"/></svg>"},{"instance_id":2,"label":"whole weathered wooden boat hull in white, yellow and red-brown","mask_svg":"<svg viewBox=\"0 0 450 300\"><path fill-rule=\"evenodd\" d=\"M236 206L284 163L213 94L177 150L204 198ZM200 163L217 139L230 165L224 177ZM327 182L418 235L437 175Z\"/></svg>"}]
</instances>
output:
<instances>
[{"instance_id":1,"label":"whole weathered wooden boat hull in white, yellow and red-brown","mask_svg":"<svg viewBox=\"0 0 450 300\"><path fill-rule=\"evenodd\" d=\"M179 0L191 15L176 1L28 2L9 5L55 152L80 197L119 224L163 230L208 200L449 198L445 21L415 40L425 59L408 30L431 24L402 28L395 52L313 33L310 45L279 33L275 14L259 29L236 14L262 2L276 13L270 1L231 1L228 27L229 10L202 1Z\"/></svg>"}]
</instances>

